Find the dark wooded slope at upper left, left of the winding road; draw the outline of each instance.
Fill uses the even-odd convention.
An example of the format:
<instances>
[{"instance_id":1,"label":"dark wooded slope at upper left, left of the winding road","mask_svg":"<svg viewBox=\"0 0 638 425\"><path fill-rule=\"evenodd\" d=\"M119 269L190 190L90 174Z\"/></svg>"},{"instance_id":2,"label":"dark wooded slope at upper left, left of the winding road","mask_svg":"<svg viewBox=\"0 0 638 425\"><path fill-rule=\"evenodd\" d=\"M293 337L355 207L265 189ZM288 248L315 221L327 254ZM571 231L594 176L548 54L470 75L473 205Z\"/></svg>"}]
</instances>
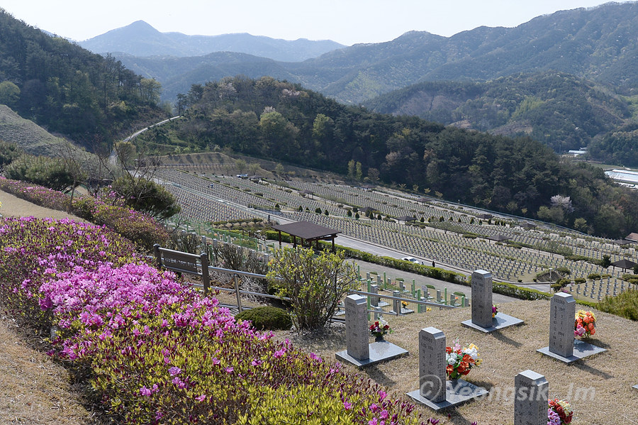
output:
<instances>
[{"instance_id":1,"label":"dark wooded slope at upper left, left of the winding road","mask_svg":"<svg viewBox=\"0 0 638 425\"><path fill-rule=\"evenodd\" d=\"M0 103L90 147L167 115L161 86L0 9ZM9 140L11 141L11 140Z\"/></svg>"}]
</instances>

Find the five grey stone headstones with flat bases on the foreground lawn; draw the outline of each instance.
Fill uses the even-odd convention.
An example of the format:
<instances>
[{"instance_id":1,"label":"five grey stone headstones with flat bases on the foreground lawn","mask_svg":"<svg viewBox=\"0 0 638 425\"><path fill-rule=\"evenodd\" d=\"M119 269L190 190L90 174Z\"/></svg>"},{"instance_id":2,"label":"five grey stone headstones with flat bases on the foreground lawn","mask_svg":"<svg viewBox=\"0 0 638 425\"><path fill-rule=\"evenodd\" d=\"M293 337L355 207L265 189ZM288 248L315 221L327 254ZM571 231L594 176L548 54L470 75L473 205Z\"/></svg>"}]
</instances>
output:
<instances>
[{"instance_id":1,"label":"five grey stone headstones with flat bases on the foreground lawn","mask_svg":"<svg viewBox=\"0 0 638 425\"><path fill-rule=\"evenodd\" d=\"M485 270L472 273L472 319L462 322L478 331L490 333L497 329L522 324L507 314L492 317L492 279ZM345 324L347 349L336 353L338 360L359 368L391 360L408 351L388 341L368 343L366 297L349 295L345 300ZM576 302L570 294L559 292L550 301L549 346L537 351L564 363L573 363L589 355L602 353L605 348L577 341L573 337ZM419 332L419 383L418 390L408 396L435 411L453 407L469 399L488 394L465 380L448 381L445 372L446 338L443 331L434 327ZM515 399L515 425L547 424L547 391L549 385L543 375L532 370L520 372L515 377L515 394L530 394L530 397ZM638 388L638 385L635 386ZM522 388L522 390L519 390ZM520 391L520 392L519 392ZM533 394L544 394L542 397Z\"/></svg>"}]
</instances>

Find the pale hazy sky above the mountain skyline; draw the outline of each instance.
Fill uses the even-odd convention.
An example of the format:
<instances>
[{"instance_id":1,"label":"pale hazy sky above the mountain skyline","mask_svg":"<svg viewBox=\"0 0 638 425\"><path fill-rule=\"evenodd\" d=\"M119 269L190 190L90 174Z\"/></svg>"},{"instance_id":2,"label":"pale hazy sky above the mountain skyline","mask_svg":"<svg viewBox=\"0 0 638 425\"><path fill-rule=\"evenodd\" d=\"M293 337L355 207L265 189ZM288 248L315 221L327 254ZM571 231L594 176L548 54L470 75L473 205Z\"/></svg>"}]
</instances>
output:
<instances>
[{"instance_id":1,"label":"pale hazy sky above the mountain skyline","mask_svg":"<svg viewBox=\"0 0 638 425\"><path fill-rule=\"evenodd\" d=\"M513 27L600 0L0 0L28 25L82 41L142 20L162 33L250 33L296 40L379 43L411 31L454 35Z\"/></svg>"}]
</instances>

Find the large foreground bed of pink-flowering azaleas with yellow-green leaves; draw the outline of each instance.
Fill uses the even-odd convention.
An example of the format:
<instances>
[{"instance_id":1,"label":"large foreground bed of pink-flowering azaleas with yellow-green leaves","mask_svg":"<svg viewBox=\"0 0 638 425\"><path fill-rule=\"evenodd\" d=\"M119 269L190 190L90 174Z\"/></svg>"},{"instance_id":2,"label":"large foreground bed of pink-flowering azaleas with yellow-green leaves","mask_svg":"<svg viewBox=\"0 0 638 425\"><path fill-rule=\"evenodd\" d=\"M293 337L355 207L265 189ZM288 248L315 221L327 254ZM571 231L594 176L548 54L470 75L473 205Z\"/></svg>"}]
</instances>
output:
<instances>
[{"instance_id":1,"label":"large foreground bed of pink-flowering azaleas with yellow-green leaves","mask_svg":"<svg viewBox=\"0 0 638 425\"><path fill-rule=\"evenodd\" d=\"M131 256L107 228L6 219L0 233L1 299L59 329L50 354L84 372L116 423L420 421L369 378L237 323L216 299Z\"/></svg>"}]
</instances>

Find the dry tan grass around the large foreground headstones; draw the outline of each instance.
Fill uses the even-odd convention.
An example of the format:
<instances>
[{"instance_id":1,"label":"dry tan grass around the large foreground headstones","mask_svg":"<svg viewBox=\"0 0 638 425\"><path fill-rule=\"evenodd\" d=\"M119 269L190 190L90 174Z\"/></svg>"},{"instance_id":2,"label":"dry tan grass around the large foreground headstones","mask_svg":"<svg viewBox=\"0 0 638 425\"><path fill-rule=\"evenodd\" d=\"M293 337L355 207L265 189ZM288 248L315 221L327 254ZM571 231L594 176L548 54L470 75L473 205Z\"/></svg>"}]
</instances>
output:
<instances>
[{"instance_id":1,"label":"dry tan grass around the large foreground headstones","mask_svg":"<svg viewBox=\"0 0 638 425\"><path fill-rule=\"evenodd\" d=\"M386 340L410 353L397 360L361 370L372 380L385 385L397 395L418 389L418 332L428 326L444 331L447 345L459 339L462 346L478 346L483 364L474 368L466 380L485 387L490 395L468 402L444 414L433 414L421 408L427 418L441 418L442 423L469 425L513 424L514 377L531 369L544 375L549 382L550 397L569 399L574 409L575 425L638 424L638 326L635 322L595 311L596 338L592 342L607 351L580 360L572 365L537 353L549 345L549 301L517 301L500 304L500 311L523 319L525 324L483 334L461 325L471 318L470 309L433 310L426 314L385 316L393 329ZM277 332L279 338L289 338L293 345L334 360L335 353L346 347L345 329L334 326L324 333L298 334ZM353 366L348 369L356 371ZM447 414L451 417L448 419Z\"/></svg>"}]
</instances>

